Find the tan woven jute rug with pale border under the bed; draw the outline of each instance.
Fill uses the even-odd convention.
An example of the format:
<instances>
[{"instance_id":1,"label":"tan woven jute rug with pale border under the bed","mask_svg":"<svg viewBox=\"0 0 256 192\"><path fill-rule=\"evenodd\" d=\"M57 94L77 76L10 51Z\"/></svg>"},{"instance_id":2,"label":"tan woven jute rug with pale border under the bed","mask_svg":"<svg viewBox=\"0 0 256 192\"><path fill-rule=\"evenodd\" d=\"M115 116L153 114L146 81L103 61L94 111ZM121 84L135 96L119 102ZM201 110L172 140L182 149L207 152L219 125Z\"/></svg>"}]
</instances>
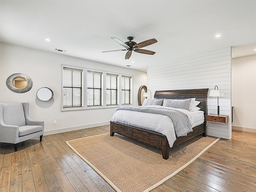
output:
<instances>
[{"instance_id":1,"label":"tan woven jute rug with pale border under the bed","mask_svg":"<svg viewBox=\"0 0 256 192\"><path fill-rule=\"evenodd\" d=\"M161 150L119 134L101 134L67 141L67 144L117 192L148 192L188 166L218 138L197 136Z\"/></svg>"}]
</instances>

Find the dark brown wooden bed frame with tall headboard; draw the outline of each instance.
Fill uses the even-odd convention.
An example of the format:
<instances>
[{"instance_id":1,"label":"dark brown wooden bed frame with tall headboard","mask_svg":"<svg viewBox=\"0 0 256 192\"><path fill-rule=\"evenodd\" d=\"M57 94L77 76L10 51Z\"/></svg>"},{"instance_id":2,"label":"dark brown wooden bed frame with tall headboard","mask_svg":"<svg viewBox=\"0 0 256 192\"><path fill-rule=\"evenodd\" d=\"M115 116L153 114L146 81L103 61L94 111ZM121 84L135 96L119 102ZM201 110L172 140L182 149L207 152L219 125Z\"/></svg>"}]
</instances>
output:
<instances>
[{"instance_id":1,"label":"dark brown wooden bed frame with tall headboard","mask_svg":"<svg viewBox=\"0 0 256 192\"><path fill-rule=\"evenodd\" d=\"M190 138L193 138L199 134L206 136L206 115L207 115L207 89L189 89L189 90L168 90L168 91L156 91L154 98L155 99L188 99L196 98L197 101L200 101L198 107L204 111L204 123L193 128L193 132L188 133L187 136L177 137L173 146L176 146ZM151 130L146 130L136 126L130 126L118 122L110 122L110 136L114 134L121 134L123 136L133 138L140 142L150 144L162 150L162 156L164 159L169 158L170 146L165 135Z\"/></svg>"}]
</instances>

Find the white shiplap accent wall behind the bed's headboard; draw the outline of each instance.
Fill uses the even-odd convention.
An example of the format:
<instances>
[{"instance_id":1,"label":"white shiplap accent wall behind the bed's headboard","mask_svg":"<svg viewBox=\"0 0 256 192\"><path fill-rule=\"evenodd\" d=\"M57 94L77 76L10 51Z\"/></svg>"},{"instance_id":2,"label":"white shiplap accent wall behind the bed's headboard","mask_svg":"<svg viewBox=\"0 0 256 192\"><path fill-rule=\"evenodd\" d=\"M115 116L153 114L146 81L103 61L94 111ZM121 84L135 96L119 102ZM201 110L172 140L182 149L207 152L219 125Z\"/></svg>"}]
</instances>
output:
<instances>
[{"instance_id":1,"label":"white shiplap accent wall behind the bed's headboard","mask_svg":"<svg viewBox=\"0 0 256 192\"><path fill-rule=\"evenodd\" d=\"M214 89L217 85L220 114L229 116L228 124L208 122L207 135L231 139L231 48L212 51L170 64L148 66L148 89ZM208 94L209 94L208 92ZM217 98L208 97L208 114L217 114Z\"/></svg>"}]
</instances>

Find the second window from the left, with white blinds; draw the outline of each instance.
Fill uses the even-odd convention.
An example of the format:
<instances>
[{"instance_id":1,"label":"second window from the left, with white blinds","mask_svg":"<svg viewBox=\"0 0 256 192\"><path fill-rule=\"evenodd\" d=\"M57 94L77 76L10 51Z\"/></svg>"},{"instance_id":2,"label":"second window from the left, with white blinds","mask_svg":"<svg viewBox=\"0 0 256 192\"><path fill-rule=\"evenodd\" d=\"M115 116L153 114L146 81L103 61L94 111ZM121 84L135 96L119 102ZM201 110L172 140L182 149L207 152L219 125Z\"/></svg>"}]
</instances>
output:
<instances>
[{"instance_id":1,"label":"second window from the left, with white blinds","mask_svg":"<svg viewBox=\"0 0 256 192\"><path fill-rule=\"evenodd\" d=\"M102 73L87 72L87 106L102 105Z\"/></svg>"}]
</instances>

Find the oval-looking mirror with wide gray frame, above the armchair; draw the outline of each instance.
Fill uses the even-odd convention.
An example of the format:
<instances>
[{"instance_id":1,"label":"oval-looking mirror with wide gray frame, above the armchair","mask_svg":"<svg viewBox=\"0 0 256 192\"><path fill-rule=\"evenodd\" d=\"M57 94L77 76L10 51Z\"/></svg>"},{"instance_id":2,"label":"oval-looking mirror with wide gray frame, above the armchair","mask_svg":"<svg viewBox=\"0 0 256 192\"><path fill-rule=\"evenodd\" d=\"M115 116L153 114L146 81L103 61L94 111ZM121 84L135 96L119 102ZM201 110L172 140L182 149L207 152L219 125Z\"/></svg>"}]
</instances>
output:
<instances>
[{"instance_id":1,"label":"oval-looking mirror with wide gray frame, above the armchair","mask_svg":"<svg viewBox=\"0 0 256 192\"><path fill-rule=\"evenodd\" d=\"M24 93L32 88L32 80L25 74L16 73L7 78L6 86L13 92Z\"/></svg>"}]
</instances>

